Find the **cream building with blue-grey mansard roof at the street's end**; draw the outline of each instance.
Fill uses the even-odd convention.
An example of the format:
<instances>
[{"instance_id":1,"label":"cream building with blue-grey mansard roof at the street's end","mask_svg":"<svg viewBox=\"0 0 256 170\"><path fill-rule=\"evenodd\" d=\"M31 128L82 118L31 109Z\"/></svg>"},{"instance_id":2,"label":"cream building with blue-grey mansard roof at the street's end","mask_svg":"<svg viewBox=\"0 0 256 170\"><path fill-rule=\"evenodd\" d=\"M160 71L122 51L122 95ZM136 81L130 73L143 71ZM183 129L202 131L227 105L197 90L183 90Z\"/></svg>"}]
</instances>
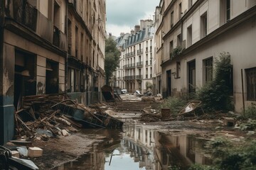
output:
<instances>
[{"instance_id":1,"label":"cream building with blue-grey mansard roof at the street's end","mask_svg":"<svg viewBox=\"0 0 256 170\"><path fill-rule=\"evenodd\" d=\"M153 33L153 21L141 20L140 25L135 26L129 36L122 34L117 38L117 45L121 47L119 68L114 78L117 87L127 89L129 93L136 90L144 93L151 88Z\"/></svg>"}]
</instances>

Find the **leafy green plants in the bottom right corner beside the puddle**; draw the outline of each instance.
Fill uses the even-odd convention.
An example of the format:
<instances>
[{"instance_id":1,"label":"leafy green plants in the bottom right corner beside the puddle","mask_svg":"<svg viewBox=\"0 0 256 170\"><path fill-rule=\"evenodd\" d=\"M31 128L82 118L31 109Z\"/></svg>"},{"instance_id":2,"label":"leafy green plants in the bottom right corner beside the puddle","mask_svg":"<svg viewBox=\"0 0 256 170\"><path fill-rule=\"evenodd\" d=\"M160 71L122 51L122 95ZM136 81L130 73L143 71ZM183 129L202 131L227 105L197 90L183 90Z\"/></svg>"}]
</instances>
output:
<instances>
[{"instance_id":1,"label":"leafy green plants in the bottom right corner beside the puddle","mask_svg":"<svg viewBox=\"0 0 256 170\"><path fill-rule=\"evenodd\" d=\"M231 147L228 140L217 137L208 142L208 149L213 155L213 165L195 164L189 170L256 169L256 141L250 142L246 147Z\"/></svg>"}]
</instances>

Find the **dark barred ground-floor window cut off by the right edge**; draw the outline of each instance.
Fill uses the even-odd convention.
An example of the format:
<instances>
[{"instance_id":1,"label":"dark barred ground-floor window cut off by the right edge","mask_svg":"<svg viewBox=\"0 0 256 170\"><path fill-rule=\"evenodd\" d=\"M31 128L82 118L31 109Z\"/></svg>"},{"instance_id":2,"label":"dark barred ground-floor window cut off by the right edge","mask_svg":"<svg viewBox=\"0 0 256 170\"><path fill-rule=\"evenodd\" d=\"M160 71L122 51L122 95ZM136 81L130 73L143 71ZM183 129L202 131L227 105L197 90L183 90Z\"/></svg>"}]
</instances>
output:
<instances>
[{"instance_id":1,"label":"dark barred ground-floor window cut off by the right edge","mask_svg":"<svg viewBox=\"0 0 256 170\"><path fill-rule=\"evenodd\" d=\"M247 100L256 101L256 67L245 69L247 83Z\"/></svg>"}]
</instances>

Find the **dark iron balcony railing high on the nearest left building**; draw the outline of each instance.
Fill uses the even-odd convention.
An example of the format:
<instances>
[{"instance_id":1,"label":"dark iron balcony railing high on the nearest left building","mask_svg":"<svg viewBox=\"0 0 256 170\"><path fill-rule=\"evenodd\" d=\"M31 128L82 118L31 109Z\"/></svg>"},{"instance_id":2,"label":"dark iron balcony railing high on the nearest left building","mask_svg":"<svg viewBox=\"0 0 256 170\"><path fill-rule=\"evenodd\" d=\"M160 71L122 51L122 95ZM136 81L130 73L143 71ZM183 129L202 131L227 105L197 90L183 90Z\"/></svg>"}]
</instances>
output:
<instances>
[{"instance_id":1,"label":"dark iron balcony railing high on the nearest left building","mask_svg":"<svg viewBox=\"0 0 256 170\"><path fill-rule=\"evenodd\" d=\"M14 0L14 19L36 31L37 10L27 1Z\"/></svg>"}]
</instances>

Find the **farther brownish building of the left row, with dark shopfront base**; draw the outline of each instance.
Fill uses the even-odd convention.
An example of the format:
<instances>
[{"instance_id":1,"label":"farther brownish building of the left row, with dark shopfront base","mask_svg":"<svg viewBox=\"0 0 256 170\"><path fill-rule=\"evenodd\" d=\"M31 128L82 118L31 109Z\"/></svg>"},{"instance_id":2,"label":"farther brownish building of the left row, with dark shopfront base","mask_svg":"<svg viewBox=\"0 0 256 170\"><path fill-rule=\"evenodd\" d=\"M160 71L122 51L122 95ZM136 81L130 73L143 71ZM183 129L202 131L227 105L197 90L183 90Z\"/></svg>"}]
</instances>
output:
<instances>
[{"instance_id":1,"label":"farther brownish building of the left row, with dark shopfront base","mask_svg":"<svg viewBox=\"0 0 256 170\"><path fill-rule=\"evenodd\" d=\"M68 4L67 92L86 105L102 98L105 18L105 1L70 1Z\"/></svg>"}]
</instances>

